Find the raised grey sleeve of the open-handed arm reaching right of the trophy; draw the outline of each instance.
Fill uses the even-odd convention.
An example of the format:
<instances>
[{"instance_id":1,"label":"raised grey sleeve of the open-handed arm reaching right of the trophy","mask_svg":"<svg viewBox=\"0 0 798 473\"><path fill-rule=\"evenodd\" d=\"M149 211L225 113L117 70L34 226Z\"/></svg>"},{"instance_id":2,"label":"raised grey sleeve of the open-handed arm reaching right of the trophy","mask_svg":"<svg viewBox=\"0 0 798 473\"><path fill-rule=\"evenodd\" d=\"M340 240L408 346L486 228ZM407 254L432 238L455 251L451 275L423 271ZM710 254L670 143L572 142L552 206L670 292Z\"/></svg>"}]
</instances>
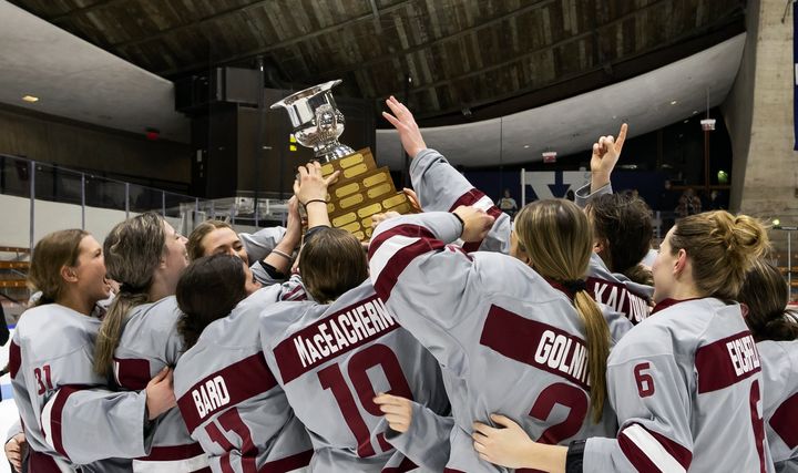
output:
<instances>
[{"instance_id":1,"label":"raised grey sleeve of the open-handed arm reaching right of the trophy","mask_svg":"<svg viewBox=\"0 0 798 473\"><path fill-rule=\"evenodd\" d=\"M463 249L510 253L510 216L474 188L440 153L422 150L410 164L410 178L424 212L452 212L461 205L469 205L495 218L482 241L467 243Z\"/></svg>"}]
</instances>

